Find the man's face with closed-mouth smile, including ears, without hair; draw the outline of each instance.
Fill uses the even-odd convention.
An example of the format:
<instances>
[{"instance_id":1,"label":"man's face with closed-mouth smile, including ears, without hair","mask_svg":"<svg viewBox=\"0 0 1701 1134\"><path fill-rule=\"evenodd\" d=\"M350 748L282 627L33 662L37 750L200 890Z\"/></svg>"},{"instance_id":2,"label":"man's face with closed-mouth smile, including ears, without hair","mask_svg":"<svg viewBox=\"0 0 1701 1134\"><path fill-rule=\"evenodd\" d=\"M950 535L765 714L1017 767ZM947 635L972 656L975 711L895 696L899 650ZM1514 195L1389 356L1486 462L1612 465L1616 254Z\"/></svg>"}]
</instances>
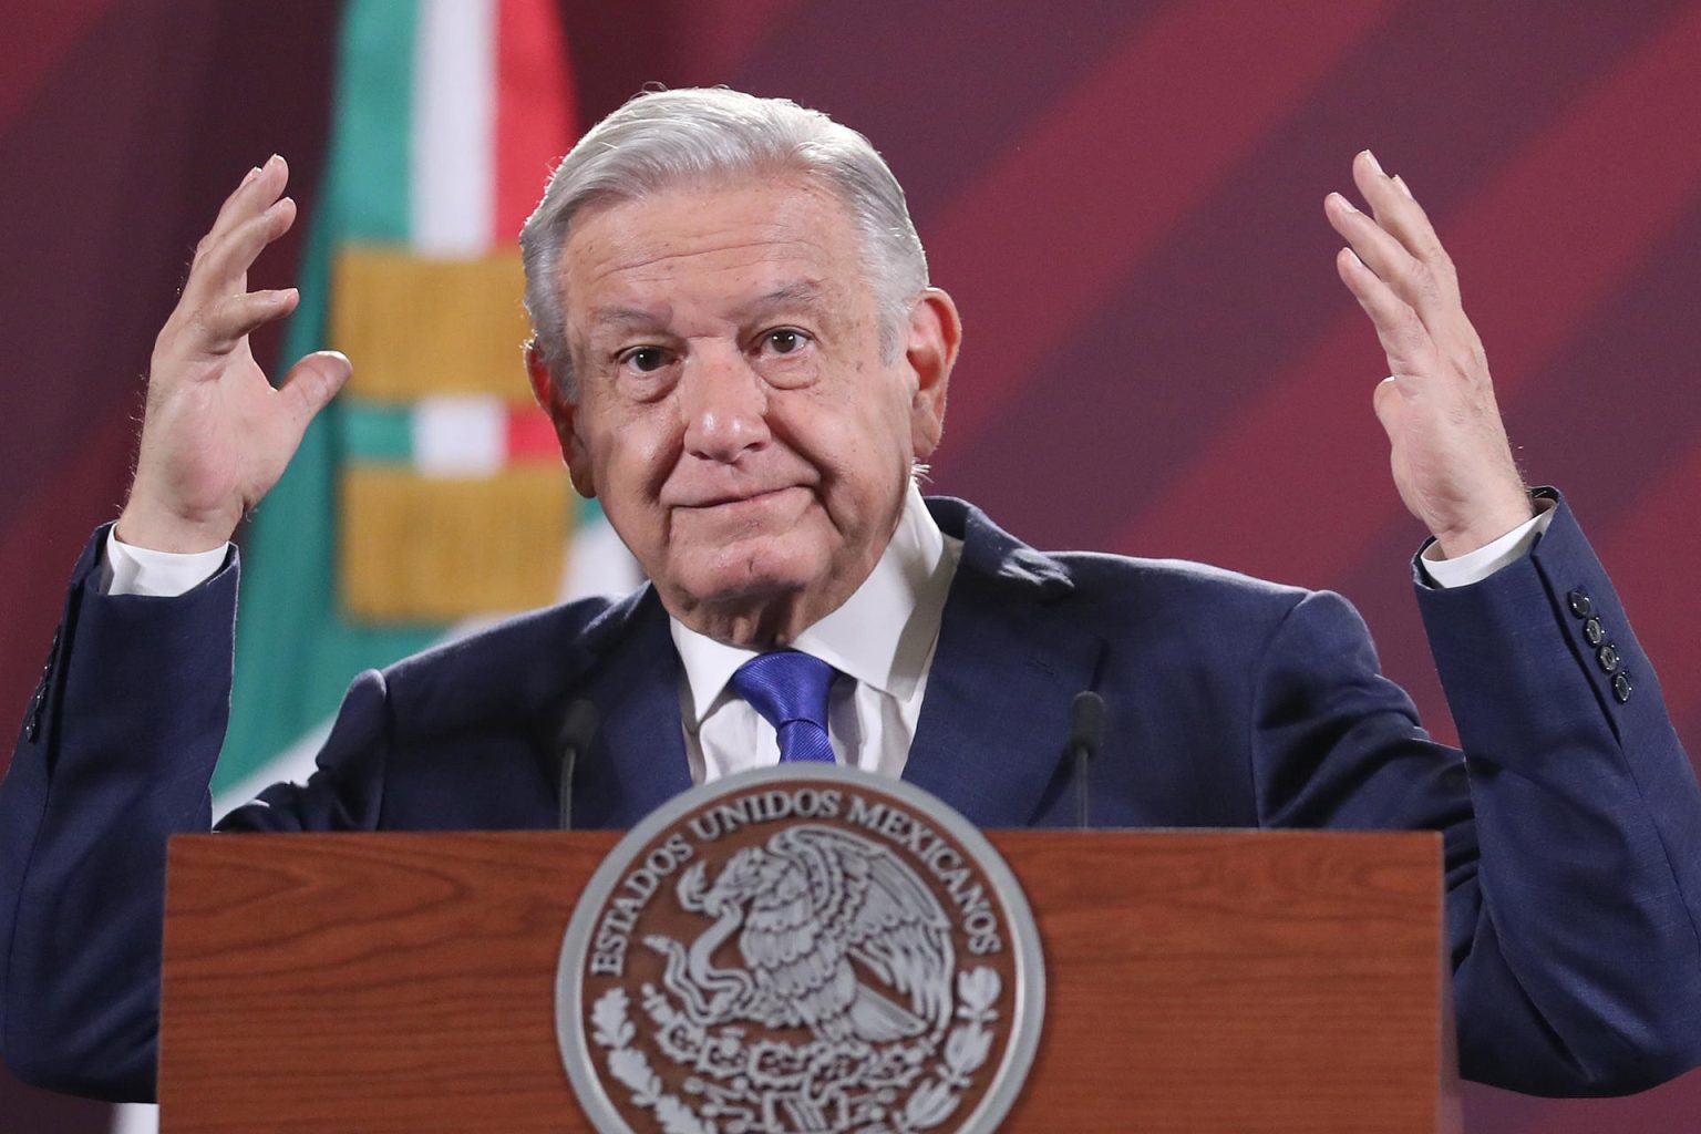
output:
<instances>
[{"instance_id":1,"label":"man's face with closed-mouth smile, including ears, without hair","mask_svg":"<svg viewBox=\"0 0 1701 1134\"><path fill-rule=\"evenodd\" d=\"M857 233L803 179L672 189L575 218L561 257L578 381L534 364L575 486L668 612L789 641L868 578L932 452L956 311L929 291L881 357Z\"/></svg>"}]
</instances>

